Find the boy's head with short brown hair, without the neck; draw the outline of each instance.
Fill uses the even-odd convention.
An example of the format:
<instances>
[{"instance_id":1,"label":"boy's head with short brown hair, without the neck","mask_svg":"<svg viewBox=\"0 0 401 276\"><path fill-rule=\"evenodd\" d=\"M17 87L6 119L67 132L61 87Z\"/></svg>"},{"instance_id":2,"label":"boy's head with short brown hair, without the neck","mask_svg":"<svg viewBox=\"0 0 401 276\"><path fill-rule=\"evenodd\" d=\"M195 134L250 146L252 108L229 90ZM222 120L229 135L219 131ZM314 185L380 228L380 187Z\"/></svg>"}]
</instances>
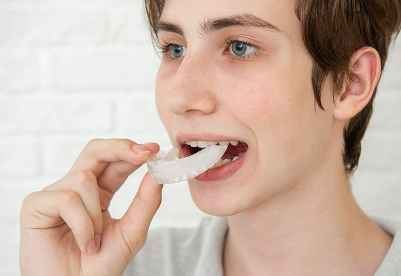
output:
<instances>
[{"instance_id":1,"label":"boy's head with short brown hair, without the neck","mask_svg":"<svg viewBox=\"0 0 401 276\"><path fill-rule=\"evenodd\" d=\"M156 103L173 144L183 155L192 140L249 147L220 175L190 183L198 206L233 200L235 213L329 164L345 176L357 167L399 1L145 3L165 50Z\"/></svg>"}]
</instances>

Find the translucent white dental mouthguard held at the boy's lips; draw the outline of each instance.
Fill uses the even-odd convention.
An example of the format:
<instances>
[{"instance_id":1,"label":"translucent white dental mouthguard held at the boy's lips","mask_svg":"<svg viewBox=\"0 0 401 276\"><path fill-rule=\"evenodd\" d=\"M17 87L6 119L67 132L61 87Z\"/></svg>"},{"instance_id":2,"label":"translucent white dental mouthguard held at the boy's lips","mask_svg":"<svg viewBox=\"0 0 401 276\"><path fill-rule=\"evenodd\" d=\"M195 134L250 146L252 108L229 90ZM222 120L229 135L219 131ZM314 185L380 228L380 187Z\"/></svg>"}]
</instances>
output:
<instances>
[{"instance_id":1,"label":"translucent white dental mouthguard held at the boy's lips","mask_svg":"<svg viewBox=\"0 0 401 276\"><path fill-rule=\"evenodd\" d=\"M215 165L227 146L209 146L191 156L176 159L179 150L159 151L146 161L147 169L159 184L171 184L194 178Z\"/></svg>"}]
</instances>

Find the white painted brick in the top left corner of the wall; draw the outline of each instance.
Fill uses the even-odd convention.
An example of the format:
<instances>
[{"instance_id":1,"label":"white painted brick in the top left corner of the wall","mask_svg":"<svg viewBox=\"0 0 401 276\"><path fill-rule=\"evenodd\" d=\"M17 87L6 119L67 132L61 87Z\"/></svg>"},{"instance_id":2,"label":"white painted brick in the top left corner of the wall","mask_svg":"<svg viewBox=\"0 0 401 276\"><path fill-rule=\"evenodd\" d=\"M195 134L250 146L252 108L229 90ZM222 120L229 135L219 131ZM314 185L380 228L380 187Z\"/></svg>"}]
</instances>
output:
<instances>
[{"instance_id":1,"label":"white painted brick in the top left corner of the wall","mask_svg":"<svg viewBox=\"0 0 401 276\"><path fill-rule=\"evenodd\" d=\"M99 8L56 1L2 3L0 43L101 42L107 15Z\"/></svg>"}]
</instances>

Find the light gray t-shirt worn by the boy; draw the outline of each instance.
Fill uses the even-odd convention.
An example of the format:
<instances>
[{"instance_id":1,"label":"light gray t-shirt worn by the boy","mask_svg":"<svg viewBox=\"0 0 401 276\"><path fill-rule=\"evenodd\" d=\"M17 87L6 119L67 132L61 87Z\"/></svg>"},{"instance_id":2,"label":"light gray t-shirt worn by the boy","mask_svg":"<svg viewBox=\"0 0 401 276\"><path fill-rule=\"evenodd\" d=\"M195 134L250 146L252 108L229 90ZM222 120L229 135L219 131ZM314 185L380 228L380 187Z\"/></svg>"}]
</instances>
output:
<instances>
[{"instance_id":1,"label":"light gray t-shirt worn by the boy","mask_svg":"<svg viewBox=\"0 0 401 276\"><path fill-rule=\"evenodd\" d=\"M374 276L401 275L401 224L373 219L393 237ZM155 229L123 276L223 276L222 256L227 218L212 217L195 229Z\"/></svg>"}]
</instances>

